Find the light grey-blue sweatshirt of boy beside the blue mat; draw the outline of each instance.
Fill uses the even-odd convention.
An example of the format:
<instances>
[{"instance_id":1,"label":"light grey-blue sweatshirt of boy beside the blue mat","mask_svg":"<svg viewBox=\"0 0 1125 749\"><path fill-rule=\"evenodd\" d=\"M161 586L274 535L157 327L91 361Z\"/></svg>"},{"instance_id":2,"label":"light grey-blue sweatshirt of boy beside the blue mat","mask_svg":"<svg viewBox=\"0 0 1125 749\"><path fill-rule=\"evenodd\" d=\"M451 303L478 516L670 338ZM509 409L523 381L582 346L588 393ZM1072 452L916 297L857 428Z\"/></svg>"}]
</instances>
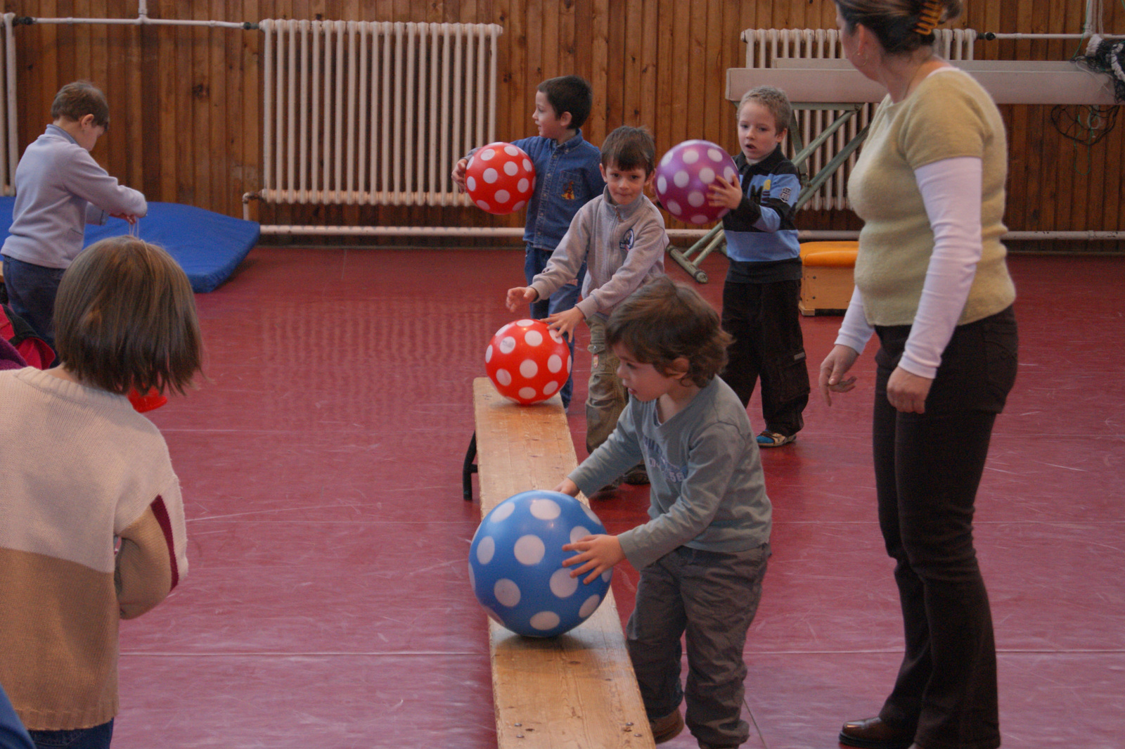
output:
<instances>
[{"instance_id":1,"label":"light grey-blue sweatshirt of boy beside the blue mat","mask_svg":"<svg viewBox=\"0 0 1125 749\"><path fill-rule=\"evenodd\" d=\"M144 195L119 184L66 130L47 125L16 168L16 202L3 254L34 265L69 268L82 252L84 224L105 224L109 214L146 213Z\"/></svg>"}]
</instances>

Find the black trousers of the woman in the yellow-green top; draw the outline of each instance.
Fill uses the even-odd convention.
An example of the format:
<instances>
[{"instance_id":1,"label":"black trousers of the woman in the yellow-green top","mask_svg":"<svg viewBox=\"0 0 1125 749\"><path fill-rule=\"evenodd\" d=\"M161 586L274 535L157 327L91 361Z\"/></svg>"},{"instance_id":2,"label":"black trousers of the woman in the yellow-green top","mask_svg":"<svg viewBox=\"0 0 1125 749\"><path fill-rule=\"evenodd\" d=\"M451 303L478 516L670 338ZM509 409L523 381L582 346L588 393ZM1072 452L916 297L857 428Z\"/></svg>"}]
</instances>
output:
<instances>
[{"instance_id":1,"label":"black trousers of the woman in the yellow-green top","mask_svg":"<svg viewBox=\"0 0 1125 749\"><path fill-rule=\"evenodd\" d=\"M910 326L876 327L873 446L879 524L896 561L906 653L880 718L926 749L1000 746L996 646L973 547L992 424L1016 379L1011 308L956 328L926 399L886 400Z\"/></svg>"}]
</instances>

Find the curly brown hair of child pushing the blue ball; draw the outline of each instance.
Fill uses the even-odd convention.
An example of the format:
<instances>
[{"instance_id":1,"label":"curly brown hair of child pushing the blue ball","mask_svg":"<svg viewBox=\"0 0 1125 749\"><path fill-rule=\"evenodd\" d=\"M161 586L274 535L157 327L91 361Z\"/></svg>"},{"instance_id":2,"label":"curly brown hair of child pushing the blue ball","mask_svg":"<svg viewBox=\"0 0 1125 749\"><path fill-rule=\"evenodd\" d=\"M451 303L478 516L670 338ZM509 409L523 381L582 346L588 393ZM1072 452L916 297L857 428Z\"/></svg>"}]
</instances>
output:
<instances>
[{"instance_id":1,"label":"curly brown hair of child pushing the blue ball","mask_svg":"<svg viewBox=\"0 0 1125 749\"><path fill-rule=\"evenodd\" d=\"M684 378L704 387L727 363L731 337L699 291L658 276L618 305L605 326L605 341L624 346L665 376L684 357Z\"/></svg>"}]
</instances>

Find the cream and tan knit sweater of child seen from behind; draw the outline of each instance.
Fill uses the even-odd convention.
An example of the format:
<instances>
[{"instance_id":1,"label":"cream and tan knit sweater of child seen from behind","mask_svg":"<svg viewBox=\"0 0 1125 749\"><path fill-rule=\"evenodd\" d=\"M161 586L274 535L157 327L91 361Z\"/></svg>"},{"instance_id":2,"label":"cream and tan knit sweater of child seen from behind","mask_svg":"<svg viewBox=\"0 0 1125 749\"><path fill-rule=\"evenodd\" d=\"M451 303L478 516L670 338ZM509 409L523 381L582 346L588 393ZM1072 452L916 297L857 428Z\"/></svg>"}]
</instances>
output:
<instances>
[{"instance_id":1,"label":"cream and tan knit sweater of child seen from behind","mask_svg":"<svg viewBox=\"0 0 1125 749\"><path fill-rule=\"evenodd\" d=\"M168 446L127 398L0 372L0 684L28 729L117 714L118 620L176 587L186 541Z\"/></svg>"}]
</instances>

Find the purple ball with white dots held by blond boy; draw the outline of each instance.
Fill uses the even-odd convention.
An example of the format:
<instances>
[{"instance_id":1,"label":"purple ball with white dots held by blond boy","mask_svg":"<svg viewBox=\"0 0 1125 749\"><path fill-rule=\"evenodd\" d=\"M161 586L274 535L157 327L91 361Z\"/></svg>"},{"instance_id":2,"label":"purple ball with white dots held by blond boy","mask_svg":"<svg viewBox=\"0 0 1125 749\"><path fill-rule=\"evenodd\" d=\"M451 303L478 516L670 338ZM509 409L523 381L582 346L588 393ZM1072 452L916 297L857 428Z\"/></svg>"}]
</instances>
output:
<instances>
[{"instance_id":1,"label":"purple ball with white dots held by blond boy","mask_svg":"<svg viewBox=\"0 0 1125 749\"><path fill-rule=\"evenodd\" d=\"M730 154L710 141L684 141L660 159L654 187L660 205L680 220L710 224L730 210L708 204L708 188L719 177L728 182L738 177Z\"/></svg>"}]
</instances>

